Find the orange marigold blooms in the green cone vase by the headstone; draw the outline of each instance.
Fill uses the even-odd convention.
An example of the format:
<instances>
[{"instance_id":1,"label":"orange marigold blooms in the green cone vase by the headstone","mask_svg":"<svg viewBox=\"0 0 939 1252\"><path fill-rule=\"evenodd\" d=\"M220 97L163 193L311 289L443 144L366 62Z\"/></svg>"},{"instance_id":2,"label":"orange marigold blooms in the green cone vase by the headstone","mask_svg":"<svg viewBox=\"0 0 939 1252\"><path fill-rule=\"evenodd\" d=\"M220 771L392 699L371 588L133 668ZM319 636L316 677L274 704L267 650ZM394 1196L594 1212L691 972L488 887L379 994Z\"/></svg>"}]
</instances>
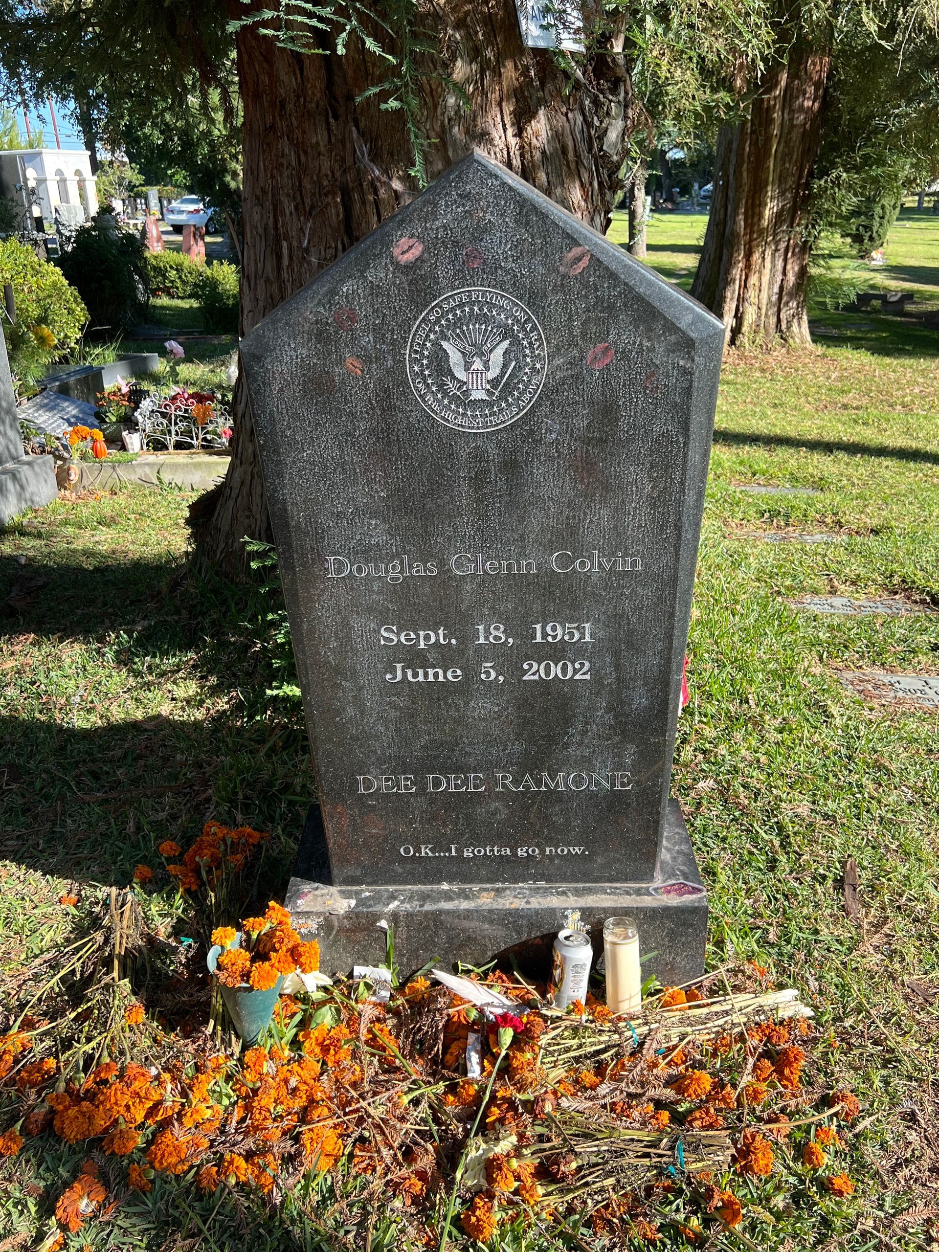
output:
<instances>
[{"instance_id":1,"label":"orange marigold blooms in the green cone vase by the headstone","mask_svg":"<svg viewBox=\"0 0 939 1252\"><path fill-rule=\"evenodd\" d=\"M300 939L288 910L273 900L263 916L245 918L240 930L218 926L212 942L222 949L215 977L223 987L267 992L288 974L314 974L319 969L319 944Z\"/></svg>"}]
</instances>

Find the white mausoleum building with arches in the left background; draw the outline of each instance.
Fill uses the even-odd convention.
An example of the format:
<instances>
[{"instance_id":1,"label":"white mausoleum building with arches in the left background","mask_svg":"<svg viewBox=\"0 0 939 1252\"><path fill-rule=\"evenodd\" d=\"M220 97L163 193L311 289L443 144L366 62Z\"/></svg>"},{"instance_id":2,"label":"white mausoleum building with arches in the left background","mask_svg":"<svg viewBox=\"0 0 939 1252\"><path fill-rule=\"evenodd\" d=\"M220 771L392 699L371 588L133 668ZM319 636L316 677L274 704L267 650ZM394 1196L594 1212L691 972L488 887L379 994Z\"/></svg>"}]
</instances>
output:
<instances>
[{"instance_id":1,"label":"white mausoleum building with arches in the left background","mask_svg":"<svg viewBox=\"0 0 939 1252\"><path fill-rule=\"evenodd\" d=\"M79 225L98 212L91 160L81 149L26 148L0 151L0 195L23 204L26 218L39 202L46 228L55 222L55 210L64 222Z\"/></svg>"}]
</instances>

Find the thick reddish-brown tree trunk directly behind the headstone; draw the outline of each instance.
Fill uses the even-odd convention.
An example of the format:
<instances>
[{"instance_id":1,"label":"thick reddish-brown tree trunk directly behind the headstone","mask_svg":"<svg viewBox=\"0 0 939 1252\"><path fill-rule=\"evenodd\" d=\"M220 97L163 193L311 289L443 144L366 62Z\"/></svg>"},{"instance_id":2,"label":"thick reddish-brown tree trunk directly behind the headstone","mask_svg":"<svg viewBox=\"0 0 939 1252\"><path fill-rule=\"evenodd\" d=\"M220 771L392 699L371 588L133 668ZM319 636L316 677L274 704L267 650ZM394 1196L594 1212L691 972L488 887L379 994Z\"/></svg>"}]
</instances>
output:
<instances>
[{"instance_id":1,"label":"thick reddish-brown tree trunk directly behind the headstone","mask_svg":"<svg viewBox=\"0 0 939 1252\"><path fill-rule=\"evenodd\" d=\"M431 4L423 19L444 33L443 78L432 65L418 80L428 177L476 148L605 229L629 141L621 56L607 46L572 79L551 53L522 45L515 0ZM303 55L254 28L239 31L242 333L416 194L402 110L358 99L387 75L357 40L343 56ZM199 560L229 572L244 567L244 537L270 537L240 378L234 418L225 480L192 515Z\"/></svg>"}]
</instances>

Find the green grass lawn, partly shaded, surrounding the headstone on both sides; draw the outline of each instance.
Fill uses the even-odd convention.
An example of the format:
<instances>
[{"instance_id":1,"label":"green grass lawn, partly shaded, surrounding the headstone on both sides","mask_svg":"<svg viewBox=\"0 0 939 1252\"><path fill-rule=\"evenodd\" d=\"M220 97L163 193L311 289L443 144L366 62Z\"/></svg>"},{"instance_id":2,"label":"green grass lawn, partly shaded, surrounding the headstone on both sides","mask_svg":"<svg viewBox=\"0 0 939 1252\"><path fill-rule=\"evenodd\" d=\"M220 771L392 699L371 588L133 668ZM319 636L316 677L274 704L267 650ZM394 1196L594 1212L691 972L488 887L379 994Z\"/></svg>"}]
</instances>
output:
<instances>
[{"instance_id":1,"label":"green grass lawn, partly shaded, surrounding the headstone on both sides","mask_svg":"<svg viewBox=\"0 0 939 1252\"><path fill-rule=\"evenodd\" d=\"M655 215L650 263L690 285L705 223ZM617 215L611 237L623 230ZM939 218L904 210L886 254L871 287L905 280L918 302L939 302ZM711 890L709 964L767 967L833 1029L833 1064L863 1104L850 1142L858 1189L835 1216L774 1208L760 1193L745 1223L707 1246L925 1252L939 1213L939 714L865 702L839 675L939 674L939 616L829 617L789 601L890 595L939 608L939 332L878 313L819 310L815 323L835 333L809 352L725 364L674 793ZM222 352L203 356L204 377L224 368ZM737 490L752 483L818 495ZM282 890L289 875L313 777L295 701L267 694L289 679L275 595L189 571L190 501L169 490L60 501L0 541L4 1024L34 994L36 962L50 957L50 978L54 954L100 928L101 888L159 865L162 840L185 846L208 818L249 824L272 831L262 889ZM835 538L760 538L777 532ZM185 913L165 878L156 885L148 916L182 952ZM64 893L79 904L61 905ZM150 975L140 977L146 999ZM38 1244L86 1154L46 1134L0 1162L0 1247ZM163 1178L68 1247L391 1247L337 1233L328 1203L332 1233L321 1218L264 1217L263 1206L235 1216L233 1203ZM646 1246L585 1239L501 1246ZM470 1247L462 1234L454 1243ZM656 1246L691 1244L670 1233Z\"/></svg>"}]
</instances>

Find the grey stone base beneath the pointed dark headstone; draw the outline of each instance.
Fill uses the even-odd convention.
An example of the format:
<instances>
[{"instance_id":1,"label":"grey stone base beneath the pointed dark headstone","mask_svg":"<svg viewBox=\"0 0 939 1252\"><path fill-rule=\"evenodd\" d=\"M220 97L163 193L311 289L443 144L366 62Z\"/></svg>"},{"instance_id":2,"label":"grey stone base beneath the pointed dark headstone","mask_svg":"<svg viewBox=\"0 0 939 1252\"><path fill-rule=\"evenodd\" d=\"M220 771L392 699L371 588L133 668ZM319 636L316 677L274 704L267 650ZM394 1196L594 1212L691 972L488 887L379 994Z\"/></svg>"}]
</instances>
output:
<instances>
[{"instance_id":1,"label":"grey stone base beneath the pointed dark headstone","mask_svg":"<svg viewBox=\"0 0 939 1252\"><path fill-rule=\"evenodd\" d=\"M416 875L417 876L417 875ZM512 964L540 982L551 972L551 950L570 910L590 926L595 959L603 950L603 921L635 919L645 977L665 985L704 973L707 894L677 801L669 803L659 874L651 883L561 886L545 883L434 884L431 886L334 886L326 835L317 806L303 829L287 891L293 924L314 936L324 973L353 965L381 965L386 929L394 928L394 963L403 974L428 962L451 969L453 962Z\"/></svg>"}]
</instances>

